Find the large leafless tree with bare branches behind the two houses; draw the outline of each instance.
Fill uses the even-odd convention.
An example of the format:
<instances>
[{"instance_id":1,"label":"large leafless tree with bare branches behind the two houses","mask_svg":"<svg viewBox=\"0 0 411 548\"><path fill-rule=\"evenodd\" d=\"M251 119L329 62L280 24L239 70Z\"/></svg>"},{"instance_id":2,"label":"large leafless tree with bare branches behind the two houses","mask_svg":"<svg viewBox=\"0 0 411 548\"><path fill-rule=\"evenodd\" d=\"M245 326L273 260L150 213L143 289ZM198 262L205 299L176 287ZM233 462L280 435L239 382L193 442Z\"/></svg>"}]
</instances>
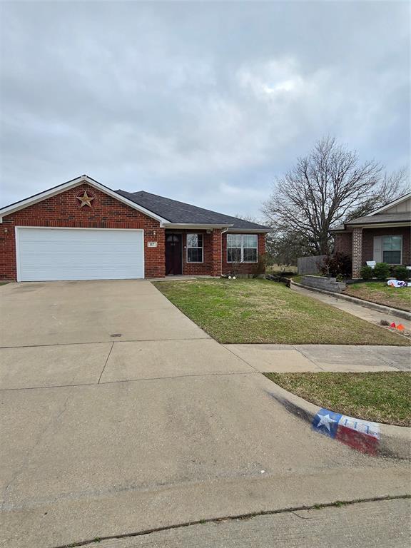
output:
<instances>
[{"instance_id":1,"label":"large leafless tree with bare branches behind the two houses","mask_svg":"<svg viewBox=\"0 0 411 548\"><path fill-rule=\"evenodd\" d=\"M278 178L263 213L280 237L323 255L330 252L330 228L403 193L405 178L405 170L388 175L376 161L360 163L355 151L326 137Z\"/></svg>"}]
</instances>

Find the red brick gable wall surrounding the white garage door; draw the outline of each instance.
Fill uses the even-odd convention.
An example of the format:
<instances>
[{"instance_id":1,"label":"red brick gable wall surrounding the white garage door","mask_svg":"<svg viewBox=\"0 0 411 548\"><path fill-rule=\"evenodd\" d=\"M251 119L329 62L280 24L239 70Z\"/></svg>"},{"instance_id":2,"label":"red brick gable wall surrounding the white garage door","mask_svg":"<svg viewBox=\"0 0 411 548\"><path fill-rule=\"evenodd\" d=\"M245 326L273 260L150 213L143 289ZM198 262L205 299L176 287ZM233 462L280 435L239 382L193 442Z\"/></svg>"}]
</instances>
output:
<instances>
[{"instance_id":1,"label":"red brick gable wall surrounding the white garage door","mask_svg":"<svg viewBox=\"0 0 411 548\"><path fill-rule=\"evenodd\" d=\"M94 197L91 208L79 207L76 196L84 191ZM87 184L4 217L3 224L0 224L0 279L3 280L16 280L14 226L143 228L146 277L158 278L166 273L164 229L160 228L158 221ZM148 240L157 241L157 247L148 248Z\"/></svg>"}]
</instances>

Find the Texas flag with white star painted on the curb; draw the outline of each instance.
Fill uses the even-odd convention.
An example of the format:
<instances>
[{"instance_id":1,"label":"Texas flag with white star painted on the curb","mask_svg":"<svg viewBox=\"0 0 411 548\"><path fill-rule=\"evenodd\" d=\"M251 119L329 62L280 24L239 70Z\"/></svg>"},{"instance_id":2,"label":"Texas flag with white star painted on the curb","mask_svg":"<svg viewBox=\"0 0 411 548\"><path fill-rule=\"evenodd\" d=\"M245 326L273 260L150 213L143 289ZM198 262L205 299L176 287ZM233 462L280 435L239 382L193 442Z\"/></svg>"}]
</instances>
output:
<instances>
[{"instance_id":1,"label":"Texas flag with white star painted on the curb","mask_svg":"<svg viewBox=\"0 0 411 548\"><path fill-rule=\"evenodd\" d=\"M380 427L376 422L355 419L328 409L320 409L313 419L313 430L333 437L363 453L377 455Z\"/></svg>"}]
</instances>

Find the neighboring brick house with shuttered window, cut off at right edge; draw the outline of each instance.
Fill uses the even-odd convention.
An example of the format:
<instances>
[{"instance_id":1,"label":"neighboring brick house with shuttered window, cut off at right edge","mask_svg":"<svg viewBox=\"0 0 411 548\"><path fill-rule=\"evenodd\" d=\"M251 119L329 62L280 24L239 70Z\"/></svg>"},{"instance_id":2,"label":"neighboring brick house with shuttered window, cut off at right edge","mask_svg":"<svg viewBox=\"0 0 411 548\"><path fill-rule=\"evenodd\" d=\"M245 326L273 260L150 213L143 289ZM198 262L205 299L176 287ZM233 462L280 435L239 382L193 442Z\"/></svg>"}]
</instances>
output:
<instances>
[{"instance_id":1,"label":"neighboring brick house with shuttered window, cut off at right edge","mask_svg":"<svg viewBox=\"0 0 411 548\"><path fill-rule=\"evenodd\" d=\"M352 278L367 261L411 265L411 193L331 231L335 251L352 258Z\"/></svg>"}]
</instances>

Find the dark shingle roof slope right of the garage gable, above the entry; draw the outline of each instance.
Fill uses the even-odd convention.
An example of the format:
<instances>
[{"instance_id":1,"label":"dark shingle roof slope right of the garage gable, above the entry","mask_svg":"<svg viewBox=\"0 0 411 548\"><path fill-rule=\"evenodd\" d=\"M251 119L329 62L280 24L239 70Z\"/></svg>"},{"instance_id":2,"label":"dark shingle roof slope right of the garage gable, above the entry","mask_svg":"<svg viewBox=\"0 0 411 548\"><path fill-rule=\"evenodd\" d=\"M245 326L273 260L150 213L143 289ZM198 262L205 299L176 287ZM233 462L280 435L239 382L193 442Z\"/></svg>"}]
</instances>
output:
<instances>
[{"instance_id":1,"label":"dark shingle roof slope right of the garage gable, above the entry","mask_svg":"<svg viewBox=\"0 0 411 548\"><path fill-rule=\"evenodd\" d=\"M196 205L171 200L171 198L164 198L163 196L157 196L157 194L151 194L146 191L126 192L118 190L116 192L121 194L121 196L128 198L128 200L138 203L138 205L141 205L143 208L167 219L170 223L220 224L233 225L230 228L235 229L243 228L250 230L255 228L255 230L269 230L266 226L250 223L248 220L238 219L237 217L230 217L230 215L224 215L223 213L216 213L215 211L210 211L208 209L198 208Z\"/></svg>"}]
</instances>

